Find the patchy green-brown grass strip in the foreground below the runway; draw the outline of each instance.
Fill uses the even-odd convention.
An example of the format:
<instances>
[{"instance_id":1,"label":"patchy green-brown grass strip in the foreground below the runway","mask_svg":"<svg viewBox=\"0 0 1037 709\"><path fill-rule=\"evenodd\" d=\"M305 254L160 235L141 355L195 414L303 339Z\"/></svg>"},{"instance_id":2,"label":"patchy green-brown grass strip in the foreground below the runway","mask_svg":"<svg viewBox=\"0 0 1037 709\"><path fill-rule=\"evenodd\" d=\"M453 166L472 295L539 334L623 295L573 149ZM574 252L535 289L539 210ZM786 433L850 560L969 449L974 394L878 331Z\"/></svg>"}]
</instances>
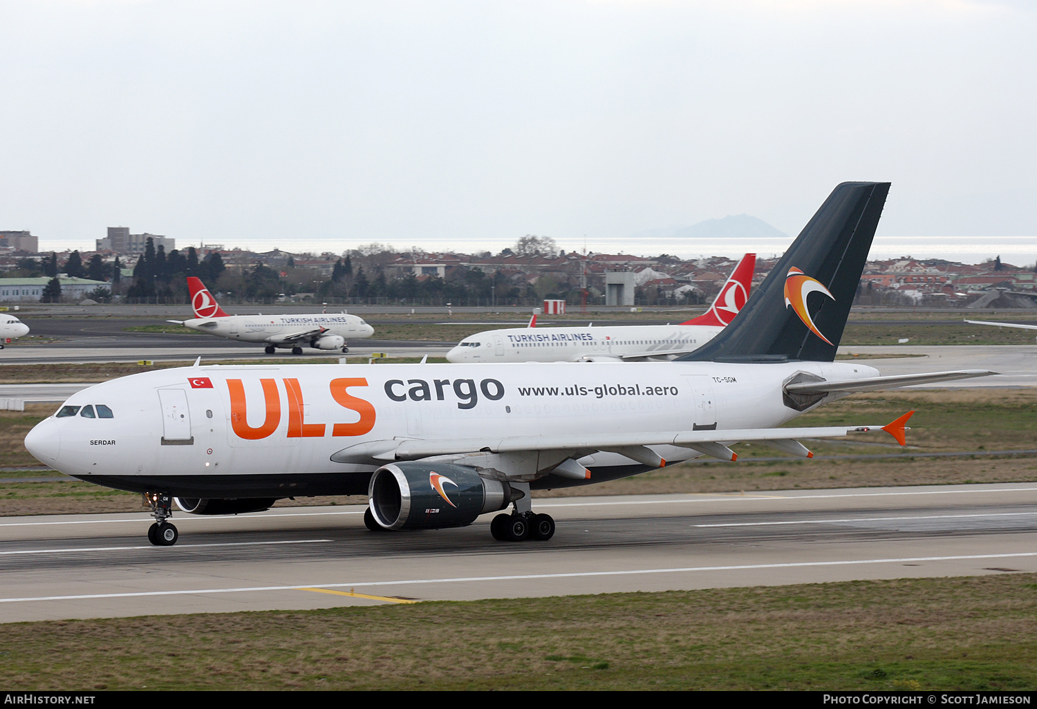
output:
<instances>
[{"instance_id":1,"label":"patchy green-brown grass strip in the foreground below the runway","mask_svg":"<svg viewBox=\"0 0 1037 709\"><path fill-rule=\"evenodd\" d=\"M1035 580L1001 573L19 623L3 626L0 676L10 690L1029 691Z\"/></svg>"}]
</instances>

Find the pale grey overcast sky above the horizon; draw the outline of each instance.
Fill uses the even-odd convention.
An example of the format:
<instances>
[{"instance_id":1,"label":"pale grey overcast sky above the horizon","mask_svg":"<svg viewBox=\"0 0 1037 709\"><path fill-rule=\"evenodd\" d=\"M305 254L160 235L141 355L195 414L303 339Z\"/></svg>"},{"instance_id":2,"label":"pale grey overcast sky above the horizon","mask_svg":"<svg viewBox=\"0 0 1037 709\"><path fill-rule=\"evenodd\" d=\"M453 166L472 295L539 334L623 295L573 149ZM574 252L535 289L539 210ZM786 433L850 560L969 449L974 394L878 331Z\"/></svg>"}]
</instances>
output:
<instances>
[{"instance_id":1,"label":"pale grey overcast sky above the horizon","mask_svg":"<svg viewBox=\"0 0 1037 709\"><path fill-rule=\"evenodd\" d=\"M579 249L744 212L794 235L874 179L880 235L1037 251L1034 8L0 0L0 229Z\"/></svg>"}]
</instances>

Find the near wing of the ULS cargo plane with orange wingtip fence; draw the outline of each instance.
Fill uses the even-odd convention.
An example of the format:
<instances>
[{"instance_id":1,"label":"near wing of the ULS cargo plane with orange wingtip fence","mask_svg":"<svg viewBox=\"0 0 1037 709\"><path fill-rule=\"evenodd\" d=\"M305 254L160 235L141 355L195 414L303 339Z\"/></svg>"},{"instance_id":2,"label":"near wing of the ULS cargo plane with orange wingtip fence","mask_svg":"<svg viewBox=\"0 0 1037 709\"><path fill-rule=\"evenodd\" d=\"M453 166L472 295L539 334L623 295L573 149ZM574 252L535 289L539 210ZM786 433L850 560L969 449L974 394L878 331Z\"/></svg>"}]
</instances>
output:
<instances>
[{"instance_id":1,"label":"near wing of the ULS cargo plane with orange wingtip fence","mask_svg":"<svg viewBox=\"0 0 1037 709\"><path fill-rule=\"evenodd\" d=\"M338 451L331 456L335 462L357 462L361 460L418 460L431 456L446 456L465 453L508 454L539 451L572 451L586 455L594 451L614 451L646 464L662 467L666 460L646 446L677 446L691 448L721 460L737 460L738 456L724 444L739 441L773 442L777 447L802 449L803 455L809 451L795 444L794 438L836 438L850 433L885 430L904 445L904 422L910 412L893 423L882 426L819 426L805 428L744 428L708 431L669 431L654 433L570 433L559 435L516 435L482 438L454 438L425 441L397 438L358 444ZM791 450L790 450L791 452Z\"/></svg>"}]
</instances>

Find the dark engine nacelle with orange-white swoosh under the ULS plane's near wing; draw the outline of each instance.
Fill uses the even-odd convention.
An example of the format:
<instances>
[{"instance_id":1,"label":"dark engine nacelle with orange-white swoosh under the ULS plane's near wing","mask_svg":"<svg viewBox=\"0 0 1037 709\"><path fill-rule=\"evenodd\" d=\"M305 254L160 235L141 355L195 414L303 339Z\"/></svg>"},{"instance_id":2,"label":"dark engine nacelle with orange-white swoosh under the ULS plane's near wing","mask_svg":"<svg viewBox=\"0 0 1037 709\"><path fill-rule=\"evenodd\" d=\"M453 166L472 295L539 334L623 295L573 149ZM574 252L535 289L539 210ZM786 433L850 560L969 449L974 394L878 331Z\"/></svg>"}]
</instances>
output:
<instances>
[{"instance_id":1,"label":"dark engine nacelle with orange-white swoosh under the ULS plane's near wing","mask_svg":"<svg viewBox=\"0 0 1037 709\"><path fill-rule=\"evenodd\" d=\"M387 530L464 527L524 494L472 467L426 462L383 465L371 476L367 493L374 520Z\"/></svg>"}]
</instances>

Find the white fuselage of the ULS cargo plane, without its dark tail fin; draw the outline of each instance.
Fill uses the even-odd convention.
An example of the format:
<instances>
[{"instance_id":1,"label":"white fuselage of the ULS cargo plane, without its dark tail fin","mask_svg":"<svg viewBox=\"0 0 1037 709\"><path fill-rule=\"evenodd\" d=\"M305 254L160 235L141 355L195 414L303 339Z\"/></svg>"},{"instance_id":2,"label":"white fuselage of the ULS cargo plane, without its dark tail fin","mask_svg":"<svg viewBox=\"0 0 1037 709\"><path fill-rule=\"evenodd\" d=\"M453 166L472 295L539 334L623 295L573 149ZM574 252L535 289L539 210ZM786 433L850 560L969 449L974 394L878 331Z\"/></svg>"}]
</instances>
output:
<instances>
[{"instance_id":1,"label":"white fuselage of the ULS cargo plane, without its dark tail fin","mask_svg":"<svg viewBox=\"0 0 1037 709\"><path fill-rule=\"evenodd\" d=\"M379 462L331 457L394 438L778 426L800 414L782 396L783 384L800 372L840 380L877 375L861 364L817 362L200 366L85 389L25 443L55 470L113 487L287 497L303 493L293 486L310 474L334 474L343 486L351 473L369 476ZM111 418L101 418L99 405ZM86 406L92 418L84 418ZM68 407L78 408L68 415ZM653 450L668 461L699 455ZM634 463L604 452L580 462L595 471ZM277 484L264 486L263 478ZM247 490L235 488L246 479Z\"/></svg>"}]
</instances>

